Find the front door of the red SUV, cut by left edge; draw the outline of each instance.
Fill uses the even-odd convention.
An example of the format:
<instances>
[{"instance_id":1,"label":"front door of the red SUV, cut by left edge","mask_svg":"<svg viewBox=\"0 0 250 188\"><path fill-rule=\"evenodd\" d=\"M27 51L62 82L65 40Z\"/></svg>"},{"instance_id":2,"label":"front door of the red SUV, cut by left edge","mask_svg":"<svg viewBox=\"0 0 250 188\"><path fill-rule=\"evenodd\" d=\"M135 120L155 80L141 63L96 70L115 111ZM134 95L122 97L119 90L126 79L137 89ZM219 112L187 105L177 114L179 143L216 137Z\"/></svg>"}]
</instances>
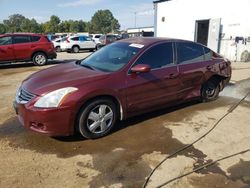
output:
<instances>
[{"instance_id":1,"label":"front door of the red SUV, cut by left edge","mask_svg":"<svg viewBox=\"0 0 250 188\"><path fill-rule=\"evenodd\" d=\"M0 37L0 61L14 60L14 49L11 36Z\"/></svg>"}]
</instances>

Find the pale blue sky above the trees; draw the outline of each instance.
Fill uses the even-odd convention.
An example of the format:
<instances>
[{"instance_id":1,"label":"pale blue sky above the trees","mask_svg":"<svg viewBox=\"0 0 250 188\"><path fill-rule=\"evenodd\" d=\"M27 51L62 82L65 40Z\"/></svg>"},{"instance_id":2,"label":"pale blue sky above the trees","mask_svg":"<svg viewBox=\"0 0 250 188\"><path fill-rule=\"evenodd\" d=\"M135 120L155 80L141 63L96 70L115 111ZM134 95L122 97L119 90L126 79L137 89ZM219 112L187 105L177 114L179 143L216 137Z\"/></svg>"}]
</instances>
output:
<instances>
[{"instance_id":1,"label":"pale blue sky above the trees","mask_svg":"<svg viewBox=\"0 0 250 188\"><path fill-rule=\"evenodd\" d=\"M0 22L12 14L35 18L39 23L57 15L61 20L89 21L99 9L109 9L121 29L153 26L153 0L0 0Z\"/></svg>"}]
</instances>

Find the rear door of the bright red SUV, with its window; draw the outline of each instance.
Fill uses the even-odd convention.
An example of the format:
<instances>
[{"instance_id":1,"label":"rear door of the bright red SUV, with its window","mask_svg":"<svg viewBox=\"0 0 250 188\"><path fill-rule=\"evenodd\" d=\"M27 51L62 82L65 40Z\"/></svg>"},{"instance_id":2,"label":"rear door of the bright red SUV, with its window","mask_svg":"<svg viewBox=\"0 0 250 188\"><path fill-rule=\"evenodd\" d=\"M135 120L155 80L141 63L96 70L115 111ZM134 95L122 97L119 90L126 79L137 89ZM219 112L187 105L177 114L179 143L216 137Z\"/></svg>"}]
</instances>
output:
<instances>
[{"instance_id":1,"label":"rear door of the bright red SUV, with its window","mask_svg":"<svg viewBox=\"0 0 250 188\"><path fill-rule=\"evenodd\" d=\"M14 53L17 60L27 60L31 58L31 37L28 35L13 36Z\"/></svg>"}]
</instances>

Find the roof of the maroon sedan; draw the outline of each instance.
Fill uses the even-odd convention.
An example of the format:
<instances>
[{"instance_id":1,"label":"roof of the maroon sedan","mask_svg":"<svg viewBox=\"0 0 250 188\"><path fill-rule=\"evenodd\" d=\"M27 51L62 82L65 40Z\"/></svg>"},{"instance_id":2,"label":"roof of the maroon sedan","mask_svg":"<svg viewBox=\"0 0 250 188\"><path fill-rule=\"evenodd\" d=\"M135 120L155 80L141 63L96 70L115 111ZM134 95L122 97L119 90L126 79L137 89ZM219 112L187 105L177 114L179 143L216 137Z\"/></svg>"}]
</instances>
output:
<instances>
[{"instance_id":1,"label":"roof of the maroon sedan","mask_svg":"<svg viewBox=\"0 0 250 188\"><path fill-rule=\"evenodd\" d=\"M128 42L128 43L138 43L143 45L150 45L153 43L158 42L177 42L177 41L185 41L180 39L173 39L173 38L161 38L161 37L135 37L135 38L127 38L121 40L122 42Z\"/></svg>"}]
</instances>

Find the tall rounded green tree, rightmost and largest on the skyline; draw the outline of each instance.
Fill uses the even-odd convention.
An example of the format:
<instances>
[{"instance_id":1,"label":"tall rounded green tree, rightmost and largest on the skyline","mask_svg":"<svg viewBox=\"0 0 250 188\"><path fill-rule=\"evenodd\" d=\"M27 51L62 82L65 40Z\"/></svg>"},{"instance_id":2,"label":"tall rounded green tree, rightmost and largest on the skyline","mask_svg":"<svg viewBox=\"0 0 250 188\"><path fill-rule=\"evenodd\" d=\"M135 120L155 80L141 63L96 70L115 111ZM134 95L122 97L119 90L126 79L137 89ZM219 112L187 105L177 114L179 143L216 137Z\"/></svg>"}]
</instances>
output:
<instances>
[{"instance_id":1,"label":"tall rounded green tree, rightmost and largest on the skyline","mask_svg":"<svg viewBox=\"0 0 250 188\"><path fill-rule=\"evenodd\" d=\"M89 27L94 33L110 33L120 29L120 24L110 10L98 10Z\"/></svg>"}]
</instances>

